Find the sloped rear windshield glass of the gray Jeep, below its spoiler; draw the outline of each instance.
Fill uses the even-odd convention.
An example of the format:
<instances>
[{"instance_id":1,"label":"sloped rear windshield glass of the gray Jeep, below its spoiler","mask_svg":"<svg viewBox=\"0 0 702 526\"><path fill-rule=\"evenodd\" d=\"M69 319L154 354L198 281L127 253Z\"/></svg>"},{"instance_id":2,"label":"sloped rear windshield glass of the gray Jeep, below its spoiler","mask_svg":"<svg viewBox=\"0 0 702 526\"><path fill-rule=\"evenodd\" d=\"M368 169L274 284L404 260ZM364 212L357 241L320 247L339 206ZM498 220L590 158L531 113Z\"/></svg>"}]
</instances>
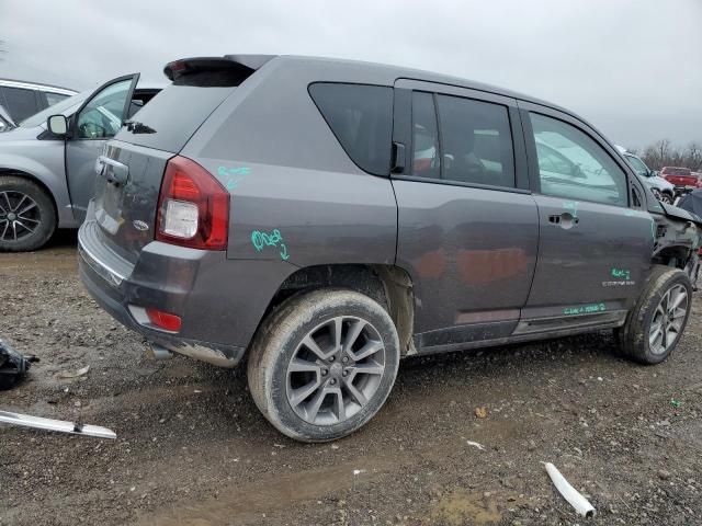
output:
<instances>
[{"instance_id":1,"label":"sloped rear windshield glass of the gray Jeep, below its spoiler","mask_svg":"<svg viewBox=\"0 0 702 526\"><path fill-rule=\"evenodd\" d=\"M169 85L129 119L115 136L133 145L178 153L235 88Z\"/></svg>"}]
</instances>

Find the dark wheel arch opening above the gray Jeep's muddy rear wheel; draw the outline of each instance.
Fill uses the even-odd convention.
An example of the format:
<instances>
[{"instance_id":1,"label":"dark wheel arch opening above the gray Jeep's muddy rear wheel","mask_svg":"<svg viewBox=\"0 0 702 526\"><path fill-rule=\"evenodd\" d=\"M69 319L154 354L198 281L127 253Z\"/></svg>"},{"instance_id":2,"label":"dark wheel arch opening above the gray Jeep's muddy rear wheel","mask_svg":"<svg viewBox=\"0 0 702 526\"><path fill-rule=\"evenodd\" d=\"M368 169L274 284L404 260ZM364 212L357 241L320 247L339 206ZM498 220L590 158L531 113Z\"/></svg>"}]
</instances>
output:
<instances>
[{"instance_id":1,"label":"dark wheel arch opening above the gray Jeep's muddy rear wheel","mask_svg":"<svg viewBox=\"0 0 702 526\"><path fill-rule=\"evenodd\" d=\"M396 265L327 264L302 267L287 276L279 286L261 322L291 296L327 287L349 288L381 304L395 323L401 354L416 353L412 343L415 324L412 281L406 270Z\"/></svg>"}]
</instances>

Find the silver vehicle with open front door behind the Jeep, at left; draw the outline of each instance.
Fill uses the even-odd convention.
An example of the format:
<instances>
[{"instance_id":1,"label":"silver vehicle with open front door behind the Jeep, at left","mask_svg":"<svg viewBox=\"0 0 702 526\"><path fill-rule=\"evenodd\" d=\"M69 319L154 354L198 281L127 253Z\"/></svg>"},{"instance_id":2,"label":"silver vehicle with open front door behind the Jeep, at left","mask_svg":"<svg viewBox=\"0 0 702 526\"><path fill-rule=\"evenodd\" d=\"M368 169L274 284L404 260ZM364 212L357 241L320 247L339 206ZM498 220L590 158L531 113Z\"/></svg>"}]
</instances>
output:
<instances>
[{"instance_id":1,"label":"silver vehicle with open front door behind the Jeep, at left","mask_svg":"<svg viewBox=\"0 0 702 526\"><path fill-rule=\"evenodd\" d=\"M105 140L159 91L135 89L137 80L113 79L0 134L0 251L38 249L56 228L82 222ZM60 134L47 129L53 115Z\"/></svg>"}]
</instances>

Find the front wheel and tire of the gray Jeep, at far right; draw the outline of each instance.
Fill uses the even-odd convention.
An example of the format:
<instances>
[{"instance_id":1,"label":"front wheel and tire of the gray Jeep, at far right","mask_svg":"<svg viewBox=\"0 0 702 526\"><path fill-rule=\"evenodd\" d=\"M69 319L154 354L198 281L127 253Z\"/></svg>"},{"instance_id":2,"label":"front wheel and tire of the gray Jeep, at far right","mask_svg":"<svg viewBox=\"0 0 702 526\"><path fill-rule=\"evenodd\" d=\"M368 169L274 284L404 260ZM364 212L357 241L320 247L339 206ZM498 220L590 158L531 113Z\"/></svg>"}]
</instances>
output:
<instances>
[{"instance_id":1,"label":"front wheel and tire of the gray Jeep, at far right","mask_svg":"<svg viewBox=\"0 0 702 526\"><path fill-rule=\"evenodd\" d=\"M679 268L654 265L626 323L619 331L622 353L639 364L665 361L676 348L692 307L692 285Z\"/></svg>"}]
</instances>

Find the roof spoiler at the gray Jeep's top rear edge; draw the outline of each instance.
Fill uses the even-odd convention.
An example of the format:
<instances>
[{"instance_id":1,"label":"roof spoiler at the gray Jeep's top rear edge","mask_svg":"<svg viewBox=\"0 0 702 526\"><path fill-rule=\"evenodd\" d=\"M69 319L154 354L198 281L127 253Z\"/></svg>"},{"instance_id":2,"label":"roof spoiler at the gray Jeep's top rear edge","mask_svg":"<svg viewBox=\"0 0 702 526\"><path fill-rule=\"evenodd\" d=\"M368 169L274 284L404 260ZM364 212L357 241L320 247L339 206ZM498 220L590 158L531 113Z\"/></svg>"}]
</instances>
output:
<instances>
[{"instance_id":1,"label":"roof spoiler at the gray Jeep's top rear edge","mask_svg":"<svg viewBox=\"0 0 702 526\"><path fill-rule=\"evenodd\" d=\"M179 85L239 85L275 55L225 55L173 60L163 68L168 80Z\"/></svg>"}]
</instances>

